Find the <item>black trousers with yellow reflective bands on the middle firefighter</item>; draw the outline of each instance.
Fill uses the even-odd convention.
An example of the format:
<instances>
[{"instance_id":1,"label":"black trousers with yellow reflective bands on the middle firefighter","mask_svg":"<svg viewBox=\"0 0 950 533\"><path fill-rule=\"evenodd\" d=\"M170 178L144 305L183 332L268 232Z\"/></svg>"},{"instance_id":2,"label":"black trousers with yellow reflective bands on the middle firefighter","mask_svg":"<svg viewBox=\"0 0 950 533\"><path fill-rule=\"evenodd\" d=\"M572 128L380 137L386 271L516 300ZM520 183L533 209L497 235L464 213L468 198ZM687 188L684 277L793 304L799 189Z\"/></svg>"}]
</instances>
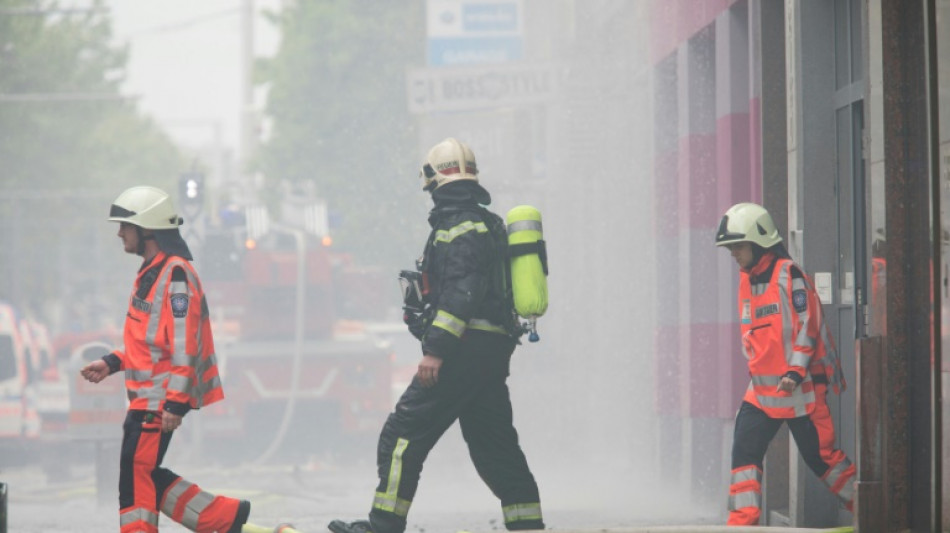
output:
<instances>
[{"instance_id":1,"label":"black trousers with yellow reflective bands on the middle firefighter","mask_svg":"<svg viewBox=\"0 0 950 533\"><path fill-rule=\"evenodd\" d=\"M514 348L508 336L470 329L461 349L443 359L436 385L424 388L413 378L380 433L380 481L370 512L374 533L405 530L422 464L456 420L476 471L502 507L538 505L538 486L518 443L506 383ZM540 517L520 522L506 526L543 528Z\"/></svg>"}]
</instances>

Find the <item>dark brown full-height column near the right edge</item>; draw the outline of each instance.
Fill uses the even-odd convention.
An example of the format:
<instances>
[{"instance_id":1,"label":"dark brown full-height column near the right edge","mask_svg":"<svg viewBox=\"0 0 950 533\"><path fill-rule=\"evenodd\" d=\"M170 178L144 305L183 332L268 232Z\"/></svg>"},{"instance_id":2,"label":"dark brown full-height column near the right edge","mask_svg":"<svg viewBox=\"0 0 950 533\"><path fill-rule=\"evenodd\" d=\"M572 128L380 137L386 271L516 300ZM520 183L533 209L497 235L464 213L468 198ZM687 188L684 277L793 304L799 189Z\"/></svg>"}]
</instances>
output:
<instances>
[{"instance_id":1,"label":"dark brown full-height column near the right edge","mask_svg":"<svg viewBox=\"0 0 950 533\"><path fill-rule=\"evenodd\" d=\"M887 260L886 531L940 527L940 323L934 3L880 0ZM873 48L872 48L873 50ZM875 50L876 51L876 50ZM863 436L863 431L862 431ZM864 442L862 442L862 445ZM859 467L859 471L861 468ZM859 515L859 518L861 516ZM859 527L872 524L859 523Z\"/></svg>"}]
</instances>

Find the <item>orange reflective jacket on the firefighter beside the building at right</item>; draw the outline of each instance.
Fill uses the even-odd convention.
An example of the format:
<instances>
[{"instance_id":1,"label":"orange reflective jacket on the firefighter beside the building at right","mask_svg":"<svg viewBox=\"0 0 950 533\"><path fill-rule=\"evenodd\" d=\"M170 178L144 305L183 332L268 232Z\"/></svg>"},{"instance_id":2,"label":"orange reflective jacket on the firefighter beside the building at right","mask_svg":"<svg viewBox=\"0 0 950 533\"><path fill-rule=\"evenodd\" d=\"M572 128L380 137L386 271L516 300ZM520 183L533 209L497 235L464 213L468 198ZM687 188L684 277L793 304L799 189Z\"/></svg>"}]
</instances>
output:
<instances>
[{"instance_id":1,"label":"orange reflective jacket on the firefighter beside the building at right","mask_svg":"<svg viewBox=\"0 0 950 533\"><path fill-rule=\"evenodd\" d=\"M834 341L814 284L792 260L766 253L739 277L742 351L752 380L743 400L773 418L796 418L815 409L815 382L845 386ZM778 392L794 372L801 383Z\"/></svg>"}]
</instances>

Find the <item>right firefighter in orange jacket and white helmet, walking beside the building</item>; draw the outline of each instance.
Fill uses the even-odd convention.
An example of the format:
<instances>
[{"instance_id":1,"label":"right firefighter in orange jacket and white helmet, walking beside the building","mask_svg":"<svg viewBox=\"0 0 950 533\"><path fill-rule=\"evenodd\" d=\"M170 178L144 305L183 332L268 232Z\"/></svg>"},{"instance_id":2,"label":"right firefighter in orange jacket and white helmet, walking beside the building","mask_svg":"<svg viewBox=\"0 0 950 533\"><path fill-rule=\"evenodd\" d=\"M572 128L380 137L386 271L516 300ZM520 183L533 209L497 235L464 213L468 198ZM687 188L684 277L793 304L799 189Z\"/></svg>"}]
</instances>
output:
<instances>
[{"instance_id":1,"label":"right firefighter in orange jacket and white helmet, walking beside the building","mask_svg":"<svg viewBox=\"0 0 950 533\"><path fill-rule=\"evenodd\" d=\"M736 414L729 525L756 525L762 509L762 461L787 423L808 467L850 511L855 468L834 448L825 402L846 386L814 283L796 265L768 211L740 203L716 233L739 264L742 351L752 381Z\"/></svg>"}]
</instances>

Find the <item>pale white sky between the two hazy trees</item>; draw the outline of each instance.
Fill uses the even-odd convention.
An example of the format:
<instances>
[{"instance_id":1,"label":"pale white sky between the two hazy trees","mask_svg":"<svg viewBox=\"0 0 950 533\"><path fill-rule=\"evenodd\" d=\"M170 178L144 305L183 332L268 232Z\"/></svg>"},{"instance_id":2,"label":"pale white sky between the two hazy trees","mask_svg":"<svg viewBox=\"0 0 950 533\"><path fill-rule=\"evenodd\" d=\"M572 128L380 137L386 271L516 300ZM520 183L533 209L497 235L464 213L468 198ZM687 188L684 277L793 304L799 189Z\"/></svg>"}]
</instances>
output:
<instances>
[{"instance_id":1,"label":"pale white sky between the two hazy trees","mask_svg":"<svg viewBox=\"0 0 950 533\"><path fill-rule=\"evenodd\" d=\"M270 55L278 37L260 17L281 0L253 0L256 55ZM237 147L241 107L243 0L108 0L119 42L130 46L124 92L189 146L221 141Z\"/></svg>"}]
</instances>

